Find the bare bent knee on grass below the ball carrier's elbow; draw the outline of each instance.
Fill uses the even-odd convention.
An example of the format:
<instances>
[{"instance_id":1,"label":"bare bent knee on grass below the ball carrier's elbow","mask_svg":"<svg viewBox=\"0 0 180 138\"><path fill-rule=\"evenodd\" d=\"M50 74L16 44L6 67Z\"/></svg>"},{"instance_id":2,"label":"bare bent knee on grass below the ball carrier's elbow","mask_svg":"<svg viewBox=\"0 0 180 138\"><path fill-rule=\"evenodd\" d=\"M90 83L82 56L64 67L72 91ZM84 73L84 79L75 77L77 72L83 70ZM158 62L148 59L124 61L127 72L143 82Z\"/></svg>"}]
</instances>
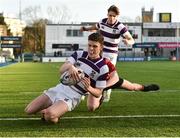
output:
<instances>
[{"instance_id":1,"label":"bare bent knee on grass below the ball carrier's elbow","mask_svg":"<svg viewBox=\"0 0 180 138\"><path fill-rule=\"evenodd\" d=\"M99 108L100 99L101 99L101 97L96 98L93 95L89 94L87 96L87 107L88 107L88 110L89 111L95 111L97 108Z\"/></svg>"}]
</instances>

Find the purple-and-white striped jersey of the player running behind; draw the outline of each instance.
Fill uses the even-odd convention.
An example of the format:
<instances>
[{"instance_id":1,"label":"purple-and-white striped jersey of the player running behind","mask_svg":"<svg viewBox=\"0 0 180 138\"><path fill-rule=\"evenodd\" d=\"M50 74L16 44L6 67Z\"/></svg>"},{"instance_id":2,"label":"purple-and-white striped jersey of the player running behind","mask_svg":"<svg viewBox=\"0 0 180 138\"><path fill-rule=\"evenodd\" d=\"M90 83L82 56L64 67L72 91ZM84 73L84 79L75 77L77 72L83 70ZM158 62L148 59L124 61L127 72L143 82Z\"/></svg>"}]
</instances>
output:
<instances>
[{"instance_id":1,"label":"purple-and-white striped jersey of the player running behind","mask_svg":"<svg viewBox=\"0 0 180 138\"><path fill-rule=\"evenodd\" d=\"M96 27L99 28L100 33L104 36L103 51L107 53L117 53L120 37L123 37L123 34L128 30L119 21L116 21L113 25L109 25L107 19L108 18L104 18L96 24Z\"/></svg>"}]
</instances>

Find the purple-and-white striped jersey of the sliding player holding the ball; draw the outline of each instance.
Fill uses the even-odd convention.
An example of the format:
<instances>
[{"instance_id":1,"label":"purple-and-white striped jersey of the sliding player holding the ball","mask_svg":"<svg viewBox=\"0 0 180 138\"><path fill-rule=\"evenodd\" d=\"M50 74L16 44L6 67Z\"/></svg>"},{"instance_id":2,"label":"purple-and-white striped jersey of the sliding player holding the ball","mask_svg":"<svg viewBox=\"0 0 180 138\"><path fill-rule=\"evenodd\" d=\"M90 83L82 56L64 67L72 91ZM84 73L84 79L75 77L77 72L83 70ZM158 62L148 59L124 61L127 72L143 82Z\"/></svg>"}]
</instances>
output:
<instances>
[{"instance_id":1,"label":"purple-and-white striped jersey of the sliding player holding the ball","mask_svg":"<svg viewBox=\"0 0 180 138\"><path fill-rule=\"evenodd\" d=\"M77 68L82 69L86 77L90 77L92 87L100 89L106 87L109 69L104 58L100 57L99 59L91 60L88 58L87 51L76 51L67 60ZM81 82L70 87L81 94L87 93Z\"/></svg>"}]
</instances>

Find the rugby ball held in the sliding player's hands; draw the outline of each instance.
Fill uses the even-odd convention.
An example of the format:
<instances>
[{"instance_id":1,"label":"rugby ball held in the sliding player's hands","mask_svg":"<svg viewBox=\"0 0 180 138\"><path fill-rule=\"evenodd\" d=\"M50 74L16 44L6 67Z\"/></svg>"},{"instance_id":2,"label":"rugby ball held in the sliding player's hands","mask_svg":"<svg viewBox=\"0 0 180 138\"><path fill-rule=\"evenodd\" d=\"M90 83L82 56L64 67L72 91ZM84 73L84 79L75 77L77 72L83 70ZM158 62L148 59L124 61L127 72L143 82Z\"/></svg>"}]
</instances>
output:
<instances>
[{"instance_id":1,"label":"rugby ball held in the sliding player's hands","mask_svg":"<svg viewBox=\"0 0 180 138\"><path fill-rule=\"evenodd\" d=\"M80 79L84 78L85 74L81 69L78 69L78 75L80 77ZM81 81L81 80L80 80ZM60 77L60 82L64 85L75 85L77 84L79 81L74 80L70 75L68 71L65 71L61 77Z\"/></svg>"}]
</instances>

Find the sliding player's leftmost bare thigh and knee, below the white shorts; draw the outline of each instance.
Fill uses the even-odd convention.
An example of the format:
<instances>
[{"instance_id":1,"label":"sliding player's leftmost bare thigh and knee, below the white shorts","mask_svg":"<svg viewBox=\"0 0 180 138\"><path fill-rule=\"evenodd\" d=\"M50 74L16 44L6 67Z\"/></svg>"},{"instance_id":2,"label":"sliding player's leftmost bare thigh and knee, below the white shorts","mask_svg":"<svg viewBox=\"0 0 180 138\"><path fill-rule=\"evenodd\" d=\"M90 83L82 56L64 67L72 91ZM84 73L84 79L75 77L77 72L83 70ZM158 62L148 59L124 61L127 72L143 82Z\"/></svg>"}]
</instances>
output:
<instances>
[{"instance_id":1,"label":"sliding player's leftmost bare thigh and knee, below the white shorts","mask_svg":"<svg viewBox=\"0 0 180 138\"><path fill-rule=\"evenodd\" d=\"M35 114L49 107L51 104L52 102L50 98L47 95L42 94L27 105L27 107L25 108L25 112L27 114Z\"/></svg>"}]
</instances>

